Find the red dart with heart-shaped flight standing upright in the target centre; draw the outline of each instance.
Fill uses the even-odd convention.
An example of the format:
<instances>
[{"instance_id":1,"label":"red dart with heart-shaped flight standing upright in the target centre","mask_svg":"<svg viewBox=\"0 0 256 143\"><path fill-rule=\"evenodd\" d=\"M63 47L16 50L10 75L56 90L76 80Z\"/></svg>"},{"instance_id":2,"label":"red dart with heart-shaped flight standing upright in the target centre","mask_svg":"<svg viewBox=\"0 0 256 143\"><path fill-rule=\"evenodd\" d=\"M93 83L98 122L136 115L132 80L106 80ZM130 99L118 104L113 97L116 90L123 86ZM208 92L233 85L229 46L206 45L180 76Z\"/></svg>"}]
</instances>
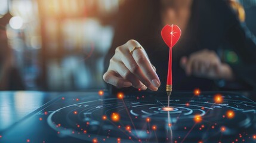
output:
<instances>
[{"instance_id":1,"label":"red dart with heart-shaped flight standing upright in the target centre","mask_svg":"<svg viewBox=\"0 0 256 143\"><path fill-rule=\"evenodd\" d=\"M178 42L181 36L180 27L172 24L172 26L166 25L161 31L162 38L166 45L169 46L169 64L167 74L166 92L168 95L168 107L169 107L169 96L172 92L172 47Z\"/></svg>"}]
</instances>

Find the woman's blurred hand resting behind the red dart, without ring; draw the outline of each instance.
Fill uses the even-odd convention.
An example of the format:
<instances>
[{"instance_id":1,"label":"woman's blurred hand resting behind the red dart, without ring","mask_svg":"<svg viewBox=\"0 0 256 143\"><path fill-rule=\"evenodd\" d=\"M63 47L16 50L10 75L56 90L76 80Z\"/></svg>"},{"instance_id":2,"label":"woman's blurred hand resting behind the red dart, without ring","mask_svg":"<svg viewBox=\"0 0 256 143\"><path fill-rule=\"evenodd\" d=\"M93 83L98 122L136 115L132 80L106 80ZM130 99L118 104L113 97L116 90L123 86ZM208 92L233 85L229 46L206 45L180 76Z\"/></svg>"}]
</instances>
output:
<instances>
[{"instance_id":1,"label":"woman's blurred hand resting behind the red dart, without ring","mask_svg":"<svg viewBox=\"0 0 256 143\"><path fill-rule=\"evenodd\" d=\"M193 74L208 79L234 79L231 67L221 63L218 55L208 49L195 52L189 58L182 57L180 64L188 76Z\"/></svg>"}]
</instances>

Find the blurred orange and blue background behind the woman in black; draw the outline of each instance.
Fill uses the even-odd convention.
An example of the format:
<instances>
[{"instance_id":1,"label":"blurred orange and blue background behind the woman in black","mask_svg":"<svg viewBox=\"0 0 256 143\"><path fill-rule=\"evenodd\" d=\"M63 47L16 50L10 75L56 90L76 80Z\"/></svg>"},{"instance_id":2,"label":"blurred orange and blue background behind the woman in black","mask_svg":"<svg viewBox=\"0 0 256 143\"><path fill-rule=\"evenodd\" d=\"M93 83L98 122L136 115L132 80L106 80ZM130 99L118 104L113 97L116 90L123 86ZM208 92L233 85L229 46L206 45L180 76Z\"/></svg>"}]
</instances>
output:
<instances>
[{"instance_id":1,"label":"blurred orange and blue background behind the woman in black","mask_svg":"<svg viewBox=\"0 0 256 143\"><path fill-rule=\"evenodd\" d=\"M103 89L125 0L0 0L0 90ZM239 1L256 34L256 1Z\"/></svg>"}]
</instances>

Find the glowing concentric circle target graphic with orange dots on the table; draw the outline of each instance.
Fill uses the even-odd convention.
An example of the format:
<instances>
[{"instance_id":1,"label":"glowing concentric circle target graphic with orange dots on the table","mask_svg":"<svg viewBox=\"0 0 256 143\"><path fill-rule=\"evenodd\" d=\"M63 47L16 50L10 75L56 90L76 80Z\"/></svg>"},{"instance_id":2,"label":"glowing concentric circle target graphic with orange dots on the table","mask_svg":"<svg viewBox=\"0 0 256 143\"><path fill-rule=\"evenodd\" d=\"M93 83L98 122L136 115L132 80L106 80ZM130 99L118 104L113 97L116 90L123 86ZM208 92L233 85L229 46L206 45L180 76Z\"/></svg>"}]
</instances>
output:
<instances>
[{"instance_id":1,"label":"glowing concentric circle target graphic with orange dots on the table","mask_svg":"<svg viewBox=\"0 0 256 143\"><path fill-rule=\"evenodd\" d=\"M60 136L72 136L84 141L97 142L184 142L185 139L211 138L234 135L241 129L251 128L255 120L255 103L225 97L222 104L215 104L211 95L199 97L172 97L171 110L165 110L166 98L153 96L125 96L118 98L80 99L61 107L48 116L48 125ZM61 105L60 105L61 104ZM235 117L229 119L227 112ZM199 122L196 122L197 119ZM220 132L225 126L229 132ZM190 130L196 130L196 133Z\"/></svg>"}]
</instances>

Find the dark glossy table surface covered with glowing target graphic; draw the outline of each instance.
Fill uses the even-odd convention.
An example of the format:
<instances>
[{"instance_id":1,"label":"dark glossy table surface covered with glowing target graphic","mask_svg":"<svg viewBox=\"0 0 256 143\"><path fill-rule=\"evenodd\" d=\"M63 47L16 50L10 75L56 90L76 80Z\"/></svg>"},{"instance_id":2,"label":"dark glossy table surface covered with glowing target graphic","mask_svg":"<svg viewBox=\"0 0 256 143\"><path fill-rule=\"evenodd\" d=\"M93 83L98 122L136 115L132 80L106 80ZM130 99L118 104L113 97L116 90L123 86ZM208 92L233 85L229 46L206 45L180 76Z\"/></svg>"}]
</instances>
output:
<instances>
[{"instance_id":1,"label":"dark glossy table surface covered with glowing target graphic","mask_svg":"<svg viewBox=\"0 0 256 143\"><path fill-rule=\"evenodd\" d=\"M246 92L174 92L169 112L165 92L122 94L0 92L0 142L256 142L256 103Z\"/></svg>"}]
</instances>

